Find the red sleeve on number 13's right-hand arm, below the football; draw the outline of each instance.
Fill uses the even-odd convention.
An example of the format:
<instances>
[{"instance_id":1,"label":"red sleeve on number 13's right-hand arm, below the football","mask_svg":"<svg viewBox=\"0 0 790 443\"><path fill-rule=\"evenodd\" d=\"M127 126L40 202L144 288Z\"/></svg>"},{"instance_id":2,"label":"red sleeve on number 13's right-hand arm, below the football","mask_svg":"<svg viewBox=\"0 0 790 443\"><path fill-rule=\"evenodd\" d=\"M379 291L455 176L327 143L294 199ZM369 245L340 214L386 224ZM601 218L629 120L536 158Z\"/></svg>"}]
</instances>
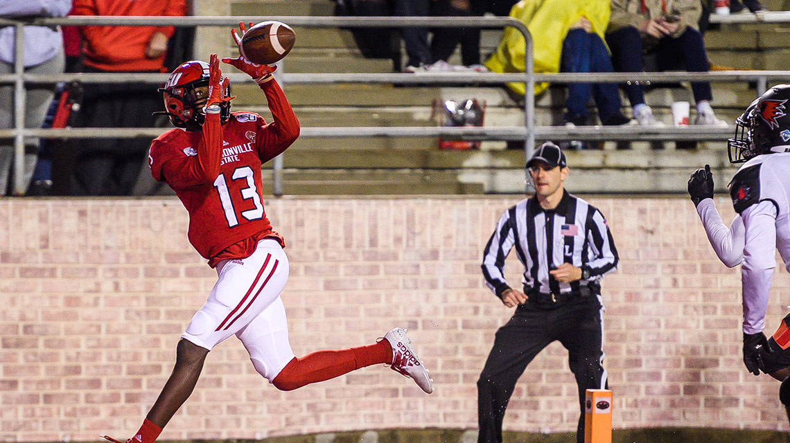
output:
<instances>
[{"instance_id":1,"label":"red sleeve on number 13's right-hand arm, below the football","mask_svg":"<svg viewBox=\"0 0 790 443\"><path fill-rule=\"evenodd\" d=\"M255 137L258 157L261 163L266 163L291 146L299 138L299 120L294 114L291 103L285 98L280 84L272 79L261 84L261 89L266 94L269 102L269 111L272 111L273 122L262 125Z\"/></svg>"}]
</instances>

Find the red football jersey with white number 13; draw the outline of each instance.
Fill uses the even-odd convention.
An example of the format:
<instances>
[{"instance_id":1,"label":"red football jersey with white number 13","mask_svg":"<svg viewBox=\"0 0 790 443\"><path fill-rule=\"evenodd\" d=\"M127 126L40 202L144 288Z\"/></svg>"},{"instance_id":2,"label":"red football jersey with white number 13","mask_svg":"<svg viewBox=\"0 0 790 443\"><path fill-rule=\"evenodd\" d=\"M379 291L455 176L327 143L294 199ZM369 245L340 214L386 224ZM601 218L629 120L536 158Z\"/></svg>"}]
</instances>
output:
<instances>
[{"instance_id":1,"label":"red football jersey with white number 13","mask_svg":"<svg viewBox=\"0 0 790 443\"><path fill-rule=\"evenodd\" d=\"M261 164L299 137L299 121L279 85L269 83L261 88L269 99L273 122L267 124L252 112L234 112L220 130L218 116L207 115L204 126L213 123L208 129L170 130L151 145L151 174L175 190L190 215L190 243L211 266L219 261L218 255L221 259L248 256L261 238L276 238L284 245L263 208ZM220 130L219 137L210 133L215 130ZM219 174L209 172L211 167L205 167L206 159L200 155L215 162L220 156ZM245 241L249 246L228 254L228 248Z\"/></svg>"}]
</instances>

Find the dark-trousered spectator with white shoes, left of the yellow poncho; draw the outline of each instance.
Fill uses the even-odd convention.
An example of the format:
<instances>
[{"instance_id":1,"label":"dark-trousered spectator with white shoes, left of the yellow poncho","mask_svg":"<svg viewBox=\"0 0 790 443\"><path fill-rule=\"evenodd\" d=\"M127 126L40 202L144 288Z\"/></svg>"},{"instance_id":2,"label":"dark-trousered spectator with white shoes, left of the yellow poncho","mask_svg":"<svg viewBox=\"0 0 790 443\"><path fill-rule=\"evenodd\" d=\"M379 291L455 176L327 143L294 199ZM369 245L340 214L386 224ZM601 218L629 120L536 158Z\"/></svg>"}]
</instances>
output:
<instances>
[{"instance_id":1,"label":"dark-trousered spectator with white shoes, left of the yellow poncho","mask_svg":"<svg viewBox=\"0 0 790 443\"><path fill-rule=\"evenodd\" d=\"M484 0L394 0L396 17L472 17L482 16ZM407 72L476 71L480 65L480 28L434 28L428 43L429 28L401 28L406 47ZM461 44L461 63L450 65L450 55Z\"/></svg>"}]
</instances>

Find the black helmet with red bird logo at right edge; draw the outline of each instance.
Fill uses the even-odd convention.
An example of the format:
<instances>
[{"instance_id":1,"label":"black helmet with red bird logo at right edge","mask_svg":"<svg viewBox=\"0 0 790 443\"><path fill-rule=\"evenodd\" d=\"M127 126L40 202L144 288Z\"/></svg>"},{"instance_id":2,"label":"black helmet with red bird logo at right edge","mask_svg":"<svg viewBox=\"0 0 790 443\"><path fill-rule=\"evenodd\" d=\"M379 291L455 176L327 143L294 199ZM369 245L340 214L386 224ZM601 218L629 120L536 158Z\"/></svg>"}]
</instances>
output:
<instances>
[{"instance_id":1,"label":"black helmet with red bird logo at right edge","mask_svg":"<svg viewBox=\"0 0 790 443\"><path fill-rule=\"evenodd\" d=\"M777 84L735 119L735 138L727 141L730 163L790 150L790 84Z\"/></svg>"}]
</instances>

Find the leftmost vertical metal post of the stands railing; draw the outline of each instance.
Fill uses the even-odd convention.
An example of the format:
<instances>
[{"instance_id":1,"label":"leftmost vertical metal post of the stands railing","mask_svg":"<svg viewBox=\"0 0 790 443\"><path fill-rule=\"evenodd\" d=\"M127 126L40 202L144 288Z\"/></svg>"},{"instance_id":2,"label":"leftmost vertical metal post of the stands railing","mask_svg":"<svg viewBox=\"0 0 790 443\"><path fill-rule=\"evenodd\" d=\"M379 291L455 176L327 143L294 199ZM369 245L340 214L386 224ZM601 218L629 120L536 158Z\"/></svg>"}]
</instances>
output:
<instances>
[{"instance_id":1,"label":"leftmost vertical metal post of the stands railing","mask_svg":"<svg viewBox=\"0 0 790 443\"><path fill-rule=\"evenodd\" d=\"M17 76L13 84L13 176L11 189L14 195L24 194L24 23L14 24L13 72Z\"/></svg>"}]
</instances>

